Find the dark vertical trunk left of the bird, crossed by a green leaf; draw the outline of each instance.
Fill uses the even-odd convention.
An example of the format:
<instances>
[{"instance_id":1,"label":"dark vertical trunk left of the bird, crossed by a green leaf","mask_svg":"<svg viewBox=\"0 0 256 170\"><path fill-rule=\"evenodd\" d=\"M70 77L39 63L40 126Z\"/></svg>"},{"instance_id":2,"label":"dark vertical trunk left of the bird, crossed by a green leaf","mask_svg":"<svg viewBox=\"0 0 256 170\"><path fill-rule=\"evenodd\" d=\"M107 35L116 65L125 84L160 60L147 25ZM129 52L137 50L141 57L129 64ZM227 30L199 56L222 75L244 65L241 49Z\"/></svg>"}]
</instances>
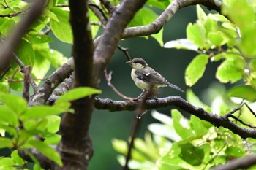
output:
<instances>
[{"instance_id":1,"label":"dark vertical trunk left of the bird, crossed by a green leaf","mask_svg":"<svg viewBox=\"0 0 256 170\"><path fill-rule=\"evenodd\" d=\"M69 0L69 9L69 21L74 37L72 55L75 63L75 79L72 88L92 87L94 45L87 1ZM75 113L66 113L61 120L62 138L58 147L64 163L61 169L87 169L93 150L89 137L89 125L94 109L94 98L90 96L72 101L71 107Z\"/></svg>"}]
</instances>

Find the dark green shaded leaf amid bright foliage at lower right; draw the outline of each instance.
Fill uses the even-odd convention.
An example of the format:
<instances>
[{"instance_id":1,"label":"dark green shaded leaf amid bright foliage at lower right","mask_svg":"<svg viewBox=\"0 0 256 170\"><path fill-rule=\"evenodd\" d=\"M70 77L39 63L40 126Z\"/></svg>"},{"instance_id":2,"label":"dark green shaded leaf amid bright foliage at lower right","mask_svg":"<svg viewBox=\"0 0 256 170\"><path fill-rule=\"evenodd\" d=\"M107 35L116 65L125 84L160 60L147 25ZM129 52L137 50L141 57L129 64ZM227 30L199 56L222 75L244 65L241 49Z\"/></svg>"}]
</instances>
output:
<instances>
[{"instance_id":1,"label":"dark green shaded leaf amid bright foliage at lower right","mask_svg":"<svg viewBox=\"0 0 256 170\"><path fill-rule=\"evenodd\" d=\"M204 152L200 147L195 147L191 143L180 144L181 153L180 158L189 163L192 166L200 166L204 158Z\"/></svg>"}]
</instances>

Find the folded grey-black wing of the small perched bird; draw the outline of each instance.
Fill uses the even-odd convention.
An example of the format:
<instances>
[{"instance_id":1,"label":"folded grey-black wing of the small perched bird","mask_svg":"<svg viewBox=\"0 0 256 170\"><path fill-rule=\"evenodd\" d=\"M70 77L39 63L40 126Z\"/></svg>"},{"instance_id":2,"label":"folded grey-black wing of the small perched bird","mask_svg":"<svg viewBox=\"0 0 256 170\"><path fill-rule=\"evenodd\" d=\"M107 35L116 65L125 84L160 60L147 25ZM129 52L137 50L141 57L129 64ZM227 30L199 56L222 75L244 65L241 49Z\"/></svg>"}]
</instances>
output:
<instances>
[{"instance_id":1,"label":"folded grey-black wing of the small perched bird","mask_svg":"<svg viewBox=\"0 0 256 170\"><path fill-rule=\"evenodd\" d=\"M137 74L138 79L143 80L144 82L156 85L169 85L169 82L151 67L138 69L135 71L135 74Z\"/></svg>"}]
</instances>

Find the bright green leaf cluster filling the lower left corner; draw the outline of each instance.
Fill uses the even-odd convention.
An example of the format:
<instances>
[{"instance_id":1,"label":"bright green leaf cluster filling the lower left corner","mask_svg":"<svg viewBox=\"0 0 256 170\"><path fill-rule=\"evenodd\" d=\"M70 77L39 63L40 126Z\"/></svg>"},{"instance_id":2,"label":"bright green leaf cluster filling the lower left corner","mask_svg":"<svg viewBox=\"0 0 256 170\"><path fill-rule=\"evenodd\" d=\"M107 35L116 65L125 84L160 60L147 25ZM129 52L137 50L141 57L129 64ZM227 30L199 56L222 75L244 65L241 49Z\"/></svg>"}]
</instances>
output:
<instances>
[{"instance_id":1,"label":"bright green leaf cluster filling the lower left corner","mask_svg":"<svg viewBox=\"0 0 256 170\"><path fill-rule=\"evenodd\" d=\"M30 153L31 148L36 148L45 157L62 165L61 158L53 146L59 143L59 131L63 112L70 112L70 101L85 96L100 93L94 88L74 88L65 93L53 106L26 107L27 101L10 93L0 93L0 149L12 150L10 158L0 158L0 169L15 169L26 166L26 161L18 155L18 150L31 156L35 164L34 169L39 169L37 158Z\"/></svg>"}]
</instances>

